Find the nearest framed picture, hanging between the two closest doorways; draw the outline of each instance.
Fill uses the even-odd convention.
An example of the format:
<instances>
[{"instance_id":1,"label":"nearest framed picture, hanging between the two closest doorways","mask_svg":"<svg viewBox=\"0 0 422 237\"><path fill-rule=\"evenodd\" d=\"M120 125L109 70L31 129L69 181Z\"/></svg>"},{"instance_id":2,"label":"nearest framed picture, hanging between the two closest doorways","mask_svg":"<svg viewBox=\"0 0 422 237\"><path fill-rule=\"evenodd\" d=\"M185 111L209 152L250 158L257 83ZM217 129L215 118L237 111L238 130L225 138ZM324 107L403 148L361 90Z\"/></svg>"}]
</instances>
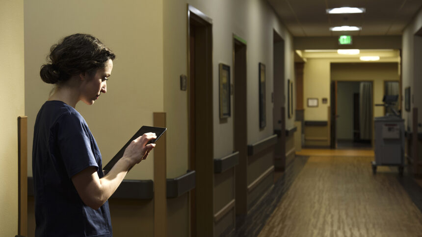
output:
<instances>
[{"instance_id":1,"label":"nearest framed picture, hanging between the two closest doorways","mask_svg":"<svg viewBox=\"0 0 422 237\"><path fill-rule=\"evenodd\" d=\"M220 119L231 116L230 109L230 66L220 63Z\"/></svg>"}]
</instances>

